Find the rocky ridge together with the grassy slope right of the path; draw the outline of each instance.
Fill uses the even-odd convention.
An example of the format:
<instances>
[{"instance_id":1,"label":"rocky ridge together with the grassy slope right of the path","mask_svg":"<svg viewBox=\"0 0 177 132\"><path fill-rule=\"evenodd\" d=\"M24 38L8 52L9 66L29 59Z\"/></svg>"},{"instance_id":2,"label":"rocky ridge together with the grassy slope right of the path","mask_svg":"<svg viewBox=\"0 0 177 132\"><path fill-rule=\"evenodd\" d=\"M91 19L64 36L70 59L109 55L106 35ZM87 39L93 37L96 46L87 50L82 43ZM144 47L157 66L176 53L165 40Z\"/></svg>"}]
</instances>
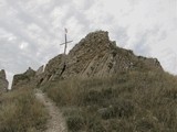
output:
<instances>
[{"instance_id":1,"label":"rocky ridge together with the grassy slope right of the path","mask_svg":"<svg viewBox=\"0 0 177 132\"><path fill-rule=\"evenodd\" d=\"M58 105L71 132L177 130L177 77L156 58L117 47L104 31L90 33L44 69L15 75L12 88L24 85Z\"/></svg>"}]
</instances>

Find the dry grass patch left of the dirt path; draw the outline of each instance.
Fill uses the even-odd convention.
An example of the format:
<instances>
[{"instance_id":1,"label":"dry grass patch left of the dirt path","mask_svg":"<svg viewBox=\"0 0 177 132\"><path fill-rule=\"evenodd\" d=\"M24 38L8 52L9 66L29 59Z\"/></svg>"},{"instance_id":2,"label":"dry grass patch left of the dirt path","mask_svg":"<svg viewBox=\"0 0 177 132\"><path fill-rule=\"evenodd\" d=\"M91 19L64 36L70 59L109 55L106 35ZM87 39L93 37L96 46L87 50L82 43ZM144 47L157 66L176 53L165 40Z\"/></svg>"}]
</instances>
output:
<instances>
[{"instance_id":1,"label":"dry grass patch left of the dirt path","mask_svg":"<svg viewBox=\"0 0 177 132\"><path fill-rule=\"evenodd\" d=\"M21 88L0 97L0 132L42 132L48 113L31 88Z\"/></svg>"}]
</instances>

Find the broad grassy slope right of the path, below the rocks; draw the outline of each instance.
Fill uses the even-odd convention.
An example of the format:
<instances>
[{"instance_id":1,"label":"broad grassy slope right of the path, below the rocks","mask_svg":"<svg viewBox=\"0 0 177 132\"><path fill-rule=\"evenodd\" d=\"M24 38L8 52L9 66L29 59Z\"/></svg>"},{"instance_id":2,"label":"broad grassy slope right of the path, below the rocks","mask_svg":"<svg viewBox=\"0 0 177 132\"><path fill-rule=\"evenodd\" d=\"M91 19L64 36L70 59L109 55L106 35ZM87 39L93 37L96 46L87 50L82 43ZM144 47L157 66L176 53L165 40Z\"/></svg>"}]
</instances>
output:
<instances>
[{"instance_id":1,"label":"broad grassy slope right of the path, below the rocks","mask_svg":"<svg viewBox=\"0 0 177 132\"><path fill-rule=\"evenodd\" d=\"M51 82L70 131L176 132L177 79L163 72L126 72L104 79Z\"/></svg>"}]
</instances>

